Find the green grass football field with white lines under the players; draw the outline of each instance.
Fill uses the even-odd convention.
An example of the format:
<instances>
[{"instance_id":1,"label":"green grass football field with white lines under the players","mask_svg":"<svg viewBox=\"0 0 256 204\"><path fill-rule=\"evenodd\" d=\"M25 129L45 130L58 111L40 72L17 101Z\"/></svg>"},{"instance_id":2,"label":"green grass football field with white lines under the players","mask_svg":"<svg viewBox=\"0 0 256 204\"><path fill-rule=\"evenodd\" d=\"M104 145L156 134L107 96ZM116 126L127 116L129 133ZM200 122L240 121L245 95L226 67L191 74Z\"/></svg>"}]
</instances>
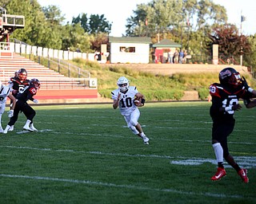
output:
<instances>
[{"instance_id":1,"label":"green grass football field with white lines under the players","mask_svg":"<svg viewBox=\"0 0 256 204\"><path fill-rule=\"evenodd\" d=\"M227 163L212 182L210 104L146 103L139 122L150 145L112 104L34 106L38 132L22 130L20 113L0 134L0 203L256 203L256 108L242 104L228 140L250 182Z\"/></svg>"}]
</instances>

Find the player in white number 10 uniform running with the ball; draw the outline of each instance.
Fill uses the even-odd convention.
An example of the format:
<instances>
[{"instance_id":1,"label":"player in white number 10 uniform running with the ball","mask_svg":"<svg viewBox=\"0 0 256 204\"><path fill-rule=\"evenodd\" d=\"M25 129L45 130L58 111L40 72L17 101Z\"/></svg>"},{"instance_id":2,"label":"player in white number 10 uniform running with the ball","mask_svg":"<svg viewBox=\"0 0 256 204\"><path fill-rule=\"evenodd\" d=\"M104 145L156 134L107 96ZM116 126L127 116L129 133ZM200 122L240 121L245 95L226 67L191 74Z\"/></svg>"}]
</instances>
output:
<instances>
[{"instance_id":1,"label":"player in white number 10 uniform running with the ball","mask_svg":"<svg viewBox=\"0 0 256 204\"><path fill-rule=\"evenodd\" d=\"M126 120L128 128L143 139L145 144L149 144L147 136L142 130L142 126L138 123L140 112L138 107L141 107L145 103L144 96L138 92L135 86L129 85L129 80L126 77L120 77L118 79L118 88L111 92L113 99L113 108L119 108L122 116ZM141 99L139 104L134 104L134 98L138 97Z\"/></svg>"}]
</instances>

